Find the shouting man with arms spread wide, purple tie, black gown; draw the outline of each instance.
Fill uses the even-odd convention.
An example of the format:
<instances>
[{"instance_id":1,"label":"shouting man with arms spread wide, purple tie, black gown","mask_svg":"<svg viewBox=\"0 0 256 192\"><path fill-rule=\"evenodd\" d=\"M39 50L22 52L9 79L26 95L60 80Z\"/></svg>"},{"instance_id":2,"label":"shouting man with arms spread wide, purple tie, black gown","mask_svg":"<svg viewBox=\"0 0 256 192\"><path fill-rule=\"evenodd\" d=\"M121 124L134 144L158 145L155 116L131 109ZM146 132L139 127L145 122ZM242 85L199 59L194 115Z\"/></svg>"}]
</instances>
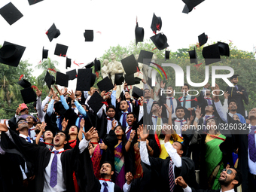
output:
<instances>
[{"instance_id":1,"label":"shouting man with arms spread wide, purple tie, black gown","mask_svg":"<svg viewBox=\"0 0 256 192\"><path fill-rule=\"evenodd\" d=\"M64 151L64 145L68 142L68 137L62 131L56 133L53 139L53 150L33 145L20 139L16 133L8 129L6 123L0 123L2 131L2 148L8 148L7 141L11 139L18 147L17 150L35 164L35 188L39 191L75 191L73 182L73 172L75 159L78 154L83 153L87 148L93 134L96 133L95 128L91 128L84 133L85 138L81 140L79 146Z\"/></svg>"}]
</instances>

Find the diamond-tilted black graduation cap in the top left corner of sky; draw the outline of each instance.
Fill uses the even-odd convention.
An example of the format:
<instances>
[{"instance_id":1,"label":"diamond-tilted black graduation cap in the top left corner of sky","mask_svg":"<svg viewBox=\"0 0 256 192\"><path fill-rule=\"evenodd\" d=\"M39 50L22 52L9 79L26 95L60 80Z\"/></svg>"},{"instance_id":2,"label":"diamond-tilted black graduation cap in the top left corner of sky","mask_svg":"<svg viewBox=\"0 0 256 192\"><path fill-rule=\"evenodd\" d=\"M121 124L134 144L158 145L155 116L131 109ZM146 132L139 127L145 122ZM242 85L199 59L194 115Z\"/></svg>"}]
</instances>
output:
<instances>
[{"instance_id":1,"label":"diamond-tilted black graduation cap in the top left corner of sky","mask_svg":"<svg viewBox=\"0 0 256 192\"><path fill-rule=\"evenodd\" d=\"M0 9L0 14L10 26L23 17L23 14L11 2Z\"/></svg>"}]
</instances>

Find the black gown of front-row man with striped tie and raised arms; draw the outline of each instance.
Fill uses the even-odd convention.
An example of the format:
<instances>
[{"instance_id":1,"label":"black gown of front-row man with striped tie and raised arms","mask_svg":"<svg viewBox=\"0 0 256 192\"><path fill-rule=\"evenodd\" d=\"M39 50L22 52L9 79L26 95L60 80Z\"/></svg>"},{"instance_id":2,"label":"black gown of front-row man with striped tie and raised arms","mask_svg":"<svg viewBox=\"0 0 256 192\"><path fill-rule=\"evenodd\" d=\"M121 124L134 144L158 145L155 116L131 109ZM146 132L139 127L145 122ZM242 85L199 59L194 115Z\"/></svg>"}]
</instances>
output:
<instances>
[{"instance_id":1,"label":"black gown of front-row man with striped tie and raised arms","mask_svg":"<svg viewBox=\"0 0 256 192\"><path fill-rule=\"evenodd\" d=\"M151 175L154 178L154 183L151 184L154 191L169 191L169 160L167 157L166 160L160 158L149 157L151 163ZM194 170L194 162L188 157L181 157L182 166L178 168L175 166L174 174L175 178L182 176L184 181L190 186L198 188L196 181L196 175ZM175 185L174 192L181 191L183 189L181 186Z\"/></svg>"}]
</instances>

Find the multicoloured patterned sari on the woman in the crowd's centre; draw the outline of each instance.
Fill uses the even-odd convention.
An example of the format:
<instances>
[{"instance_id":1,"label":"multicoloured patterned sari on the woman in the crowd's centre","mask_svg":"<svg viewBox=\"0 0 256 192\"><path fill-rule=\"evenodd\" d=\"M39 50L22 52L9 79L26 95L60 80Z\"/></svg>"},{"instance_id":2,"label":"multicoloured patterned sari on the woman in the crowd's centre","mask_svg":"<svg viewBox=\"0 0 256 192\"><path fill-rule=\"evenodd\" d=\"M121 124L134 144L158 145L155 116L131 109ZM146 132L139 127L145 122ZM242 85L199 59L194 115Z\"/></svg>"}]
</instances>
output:
<instances>
[{"instance_id":1,"label":"multicoloured patterned sari on the woman in the crowd's centre","mask_svg":"<svg viewBox=\"0 0 256 192\"><path fill-rule=\"evenodd\" d=\"M125 184L124 156L122 147L122 142L114 146L115 184L117 184L121 189L123 188L123 184Z\"/></svg>"}]
</instances>

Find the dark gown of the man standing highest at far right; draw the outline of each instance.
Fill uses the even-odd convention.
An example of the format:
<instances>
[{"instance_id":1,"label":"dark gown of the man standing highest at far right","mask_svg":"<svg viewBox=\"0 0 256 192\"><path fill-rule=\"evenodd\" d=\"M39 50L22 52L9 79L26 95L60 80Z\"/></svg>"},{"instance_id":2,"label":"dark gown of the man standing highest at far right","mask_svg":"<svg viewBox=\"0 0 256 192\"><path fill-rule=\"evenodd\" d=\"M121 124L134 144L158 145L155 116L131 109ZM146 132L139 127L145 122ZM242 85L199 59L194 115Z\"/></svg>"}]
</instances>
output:
<instances>
[{"instance_id":1,"label":"dark gown of the man standing highest at far right","mask_svg":"<svg viewBox=\"0 0 256 192\"><path fill-rule=\"evenodd\" d=\"M228 91L228 93L230 94L230 96L228 96L228 101L230 101L231 99L235 99L237 103L236 112L242 114L242 116L245 117L245 107L243 105L242 100L244 100L245 104L248 105L248 93L246 92L245 88L241 85L238 84L237 87L238 90L236 90L236 87L227 87L226 91ZM242 95L240 93L236 93L236 91L242 92Z\"/></svg>"}]
</instances>

